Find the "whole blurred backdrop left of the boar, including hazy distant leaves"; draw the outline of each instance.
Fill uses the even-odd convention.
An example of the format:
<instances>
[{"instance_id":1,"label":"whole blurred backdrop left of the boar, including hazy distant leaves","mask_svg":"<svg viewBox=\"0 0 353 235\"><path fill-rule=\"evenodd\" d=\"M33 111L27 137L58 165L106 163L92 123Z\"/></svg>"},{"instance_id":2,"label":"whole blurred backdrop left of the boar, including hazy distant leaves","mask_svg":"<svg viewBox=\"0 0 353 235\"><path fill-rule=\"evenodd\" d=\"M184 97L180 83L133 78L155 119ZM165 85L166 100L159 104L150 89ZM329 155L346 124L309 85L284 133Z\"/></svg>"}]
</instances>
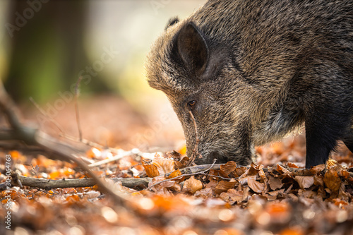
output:
<instances>
[{"instance_id":1,"label":"whole blurred backdrop left of the boar, including hazy distant leaves","mask_svg":"<svg viewBox=\"0 0 353 235\"><path fill-rule=\"evenodd\" d=\"M0 78L25 120L78 136L74 87L81 76L83 138L110 147L181 147L167 98L144 76L150 45L173 16L205 0L1 0ZM36 108L33 102L40 105Z\"/></svg>"}]
</instances>

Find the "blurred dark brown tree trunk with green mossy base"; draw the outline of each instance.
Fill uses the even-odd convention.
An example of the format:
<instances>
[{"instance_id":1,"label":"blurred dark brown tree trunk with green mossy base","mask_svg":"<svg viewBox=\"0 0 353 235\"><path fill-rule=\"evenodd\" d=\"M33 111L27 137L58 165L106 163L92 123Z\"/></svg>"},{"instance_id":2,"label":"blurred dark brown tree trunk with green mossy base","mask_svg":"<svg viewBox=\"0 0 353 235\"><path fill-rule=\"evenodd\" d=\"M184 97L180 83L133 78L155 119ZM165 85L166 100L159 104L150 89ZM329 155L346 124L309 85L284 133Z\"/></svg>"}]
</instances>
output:
<instances>
[{"instance_id":1,"label":"blurred dark brown tree trunk with green mossy base","mask_svg":"<svg viewBox=\"0 0 353 235\"><path fill-rule=\"evenodd\" d=\"M5 86L15 100L41 102L69 90L87 64L88 1L11 0L5 37L12 54Z\"/></svg>"}]
</instances>

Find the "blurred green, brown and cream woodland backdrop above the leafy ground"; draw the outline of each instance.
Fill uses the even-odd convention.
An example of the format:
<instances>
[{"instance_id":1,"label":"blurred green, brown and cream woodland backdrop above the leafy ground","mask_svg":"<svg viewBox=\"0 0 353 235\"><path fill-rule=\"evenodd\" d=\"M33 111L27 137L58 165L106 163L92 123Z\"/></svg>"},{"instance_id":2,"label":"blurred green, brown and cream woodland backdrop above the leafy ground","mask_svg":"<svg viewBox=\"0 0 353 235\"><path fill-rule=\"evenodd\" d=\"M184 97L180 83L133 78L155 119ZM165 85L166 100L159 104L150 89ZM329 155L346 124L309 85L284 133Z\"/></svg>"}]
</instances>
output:
<instances>
[{"instance_id":1,"label":"blurred green, brown and cream woodland backdrop above the leafy ground","mask_svg":"<svg viewBox=\"0 0 353 235\"><path fill-rule=\"evenodd\" d=\"M150 44L169 18L185 18L204 2L1 0L1 80L16 102L32 97L42 104L70 91L80 72L87 75L86 68L113 48L119 54L81 84L81 95L118 95L148 112L148 104L165 99L145 81Z\"/></svg>"}]
</instances>

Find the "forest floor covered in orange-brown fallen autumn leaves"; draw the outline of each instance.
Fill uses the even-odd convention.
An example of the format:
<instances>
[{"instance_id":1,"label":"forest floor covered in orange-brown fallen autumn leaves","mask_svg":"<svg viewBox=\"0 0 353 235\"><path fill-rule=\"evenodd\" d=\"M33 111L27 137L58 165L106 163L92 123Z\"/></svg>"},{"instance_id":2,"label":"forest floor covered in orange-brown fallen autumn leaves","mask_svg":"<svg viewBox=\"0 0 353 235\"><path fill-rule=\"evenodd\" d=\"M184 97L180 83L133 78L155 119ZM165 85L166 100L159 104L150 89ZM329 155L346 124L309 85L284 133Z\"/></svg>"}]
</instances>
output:
<instances>
[{"instance_id":1,"label":"forest floor covered in orange-brown fallen autumn leaves","mask_svg":"<svg viewBox=\"0 0 353 235\"><path fill-rule=\"evenodd\" d=\"M38 123L38 112L21 109L25 119ZM54 119L77 135L72 110L68 104ZM85 162L122 156L92 171L124 195L125 203L116 203L94 185L2 188L0 234L353 234L353 155L344 145L327 169L299 169L306 154L304 136L299 135L256 147L258 162L251 166L228 162L186 174L183 136L175 123L163 122L158 115L156 122L112 97L82 102L80 118L83 138L112 147L86 146L80 156ZM158 121L162 128L151 126ZM50 121L42 121L41 128L63 138ZM88 176L75 163L44 155L13 149L0 156L3 185L8 166L18 176L41 181ZM149 183L129 187L116 180L145 176Z\"/></svg>"}]
</instances>

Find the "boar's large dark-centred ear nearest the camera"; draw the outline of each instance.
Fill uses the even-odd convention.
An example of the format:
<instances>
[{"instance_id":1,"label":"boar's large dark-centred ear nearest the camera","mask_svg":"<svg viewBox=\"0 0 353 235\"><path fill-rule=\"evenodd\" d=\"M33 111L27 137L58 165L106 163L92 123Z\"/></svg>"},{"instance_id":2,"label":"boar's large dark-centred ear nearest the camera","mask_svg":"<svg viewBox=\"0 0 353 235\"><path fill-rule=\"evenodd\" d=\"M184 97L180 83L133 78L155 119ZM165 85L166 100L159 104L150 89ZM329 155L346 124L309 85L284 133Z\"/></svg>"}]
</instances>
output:
<instances>
[{"instance_id":1,"label":"boar's large dark-centred ear nearest the camera","mask_svg":"<svg viewBox=\"0 0 353 235\"><path fill-rule=\"evenodd\" d=\"M186 68L195 76L201 76L208 63L208 45L196 25L187 23L177 34L177 53Z\"/></svg>"}]
</instances>

